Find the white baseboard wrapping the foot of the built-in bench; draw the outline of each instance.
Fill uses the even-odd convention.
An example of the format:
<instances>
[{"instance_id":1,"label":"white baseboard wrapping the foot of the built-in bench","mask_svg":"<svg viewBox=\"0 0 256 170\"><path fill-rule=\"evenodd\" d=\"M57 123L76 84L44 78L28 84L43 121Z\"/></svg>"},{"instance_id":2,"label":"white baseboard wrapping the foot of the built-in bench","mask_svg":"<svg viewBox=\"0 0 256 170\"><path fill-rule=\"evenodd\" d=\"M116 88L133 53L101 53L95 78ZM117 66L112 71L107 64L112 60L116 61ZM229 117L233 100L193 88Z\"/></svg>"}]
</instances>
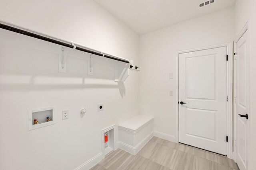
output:
<instances>
[{"instance_id":1,"label":"white baseboard wrapping the foot of the built-in bench","mask_svg":"<svg viewBox=\"0 0 256 170\"><path fill-rule=\"evenodd\" d=\"M142 141L140 141L140 143L136 145L136 147L132 147L121 141L118 141L118 145L120 149L135 155L140 151L140 149L142 149L148 143L148 141L150 141L150 139L153 136L154 136L154 131L152 131L150 134L148 134L148 136L146 136Z\"/></svg>"}]
</instances>

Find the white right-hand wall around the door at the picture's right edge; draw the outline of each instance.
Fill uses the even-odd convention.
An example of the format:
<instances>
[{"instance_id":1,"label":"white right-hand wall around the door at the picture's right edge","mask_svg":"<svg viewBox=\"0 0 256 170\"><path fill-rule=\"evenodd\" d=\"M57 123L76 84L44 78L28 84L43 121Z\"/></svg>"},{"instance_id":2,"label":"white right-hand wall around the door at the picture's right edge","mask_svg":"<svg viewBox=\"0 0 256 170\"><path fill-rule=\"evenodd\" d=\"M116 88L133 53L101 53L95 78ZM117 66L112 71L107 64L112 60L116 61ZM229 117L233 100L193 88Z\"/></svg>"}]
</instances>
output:
<instances>
[{"instance_id":1,"label":"white right-hand wall around the door at the picture's right edge","mask_svg":"<svg viewBox=\"0 0 256 170\"><path fill-rule=\"evenodd\" d=\"M235 4L235 28L236 33L235 37L238 36L238 33L242 30L242 27L249 22L249 31L250 31L250 134L249 134L249 143L250 148L248 149L248 154L250 157L249 170L253 170L256 167L256 1L255 0L236 0Z\"/></svg>"}]
</instances>

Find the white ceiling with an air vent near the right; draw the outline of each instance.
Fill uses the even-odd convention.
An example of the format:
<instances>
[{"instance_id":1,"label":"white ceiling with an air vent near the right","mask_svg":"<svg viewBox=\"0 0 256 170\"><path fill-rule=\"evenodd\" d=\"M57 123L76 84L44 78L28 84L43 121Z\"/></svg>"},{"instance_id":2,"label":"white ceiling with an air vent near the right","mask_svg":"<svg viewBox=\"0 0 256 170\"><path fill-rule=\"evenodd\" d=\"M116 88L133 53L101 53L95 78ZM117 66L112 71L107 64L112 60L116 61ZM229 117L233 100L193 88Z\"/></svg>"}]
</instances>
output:
<instances>
[{"instance_id":1,"label":"white ceiling with an air vent near the right","mask_svg":"<svg viewBox=\"0 0 256 170\"><path fill-rule=\"evenodd\" d=\"M94 0L139 35L234 6L235 0Z\"/></svg>"}]
</instances>

